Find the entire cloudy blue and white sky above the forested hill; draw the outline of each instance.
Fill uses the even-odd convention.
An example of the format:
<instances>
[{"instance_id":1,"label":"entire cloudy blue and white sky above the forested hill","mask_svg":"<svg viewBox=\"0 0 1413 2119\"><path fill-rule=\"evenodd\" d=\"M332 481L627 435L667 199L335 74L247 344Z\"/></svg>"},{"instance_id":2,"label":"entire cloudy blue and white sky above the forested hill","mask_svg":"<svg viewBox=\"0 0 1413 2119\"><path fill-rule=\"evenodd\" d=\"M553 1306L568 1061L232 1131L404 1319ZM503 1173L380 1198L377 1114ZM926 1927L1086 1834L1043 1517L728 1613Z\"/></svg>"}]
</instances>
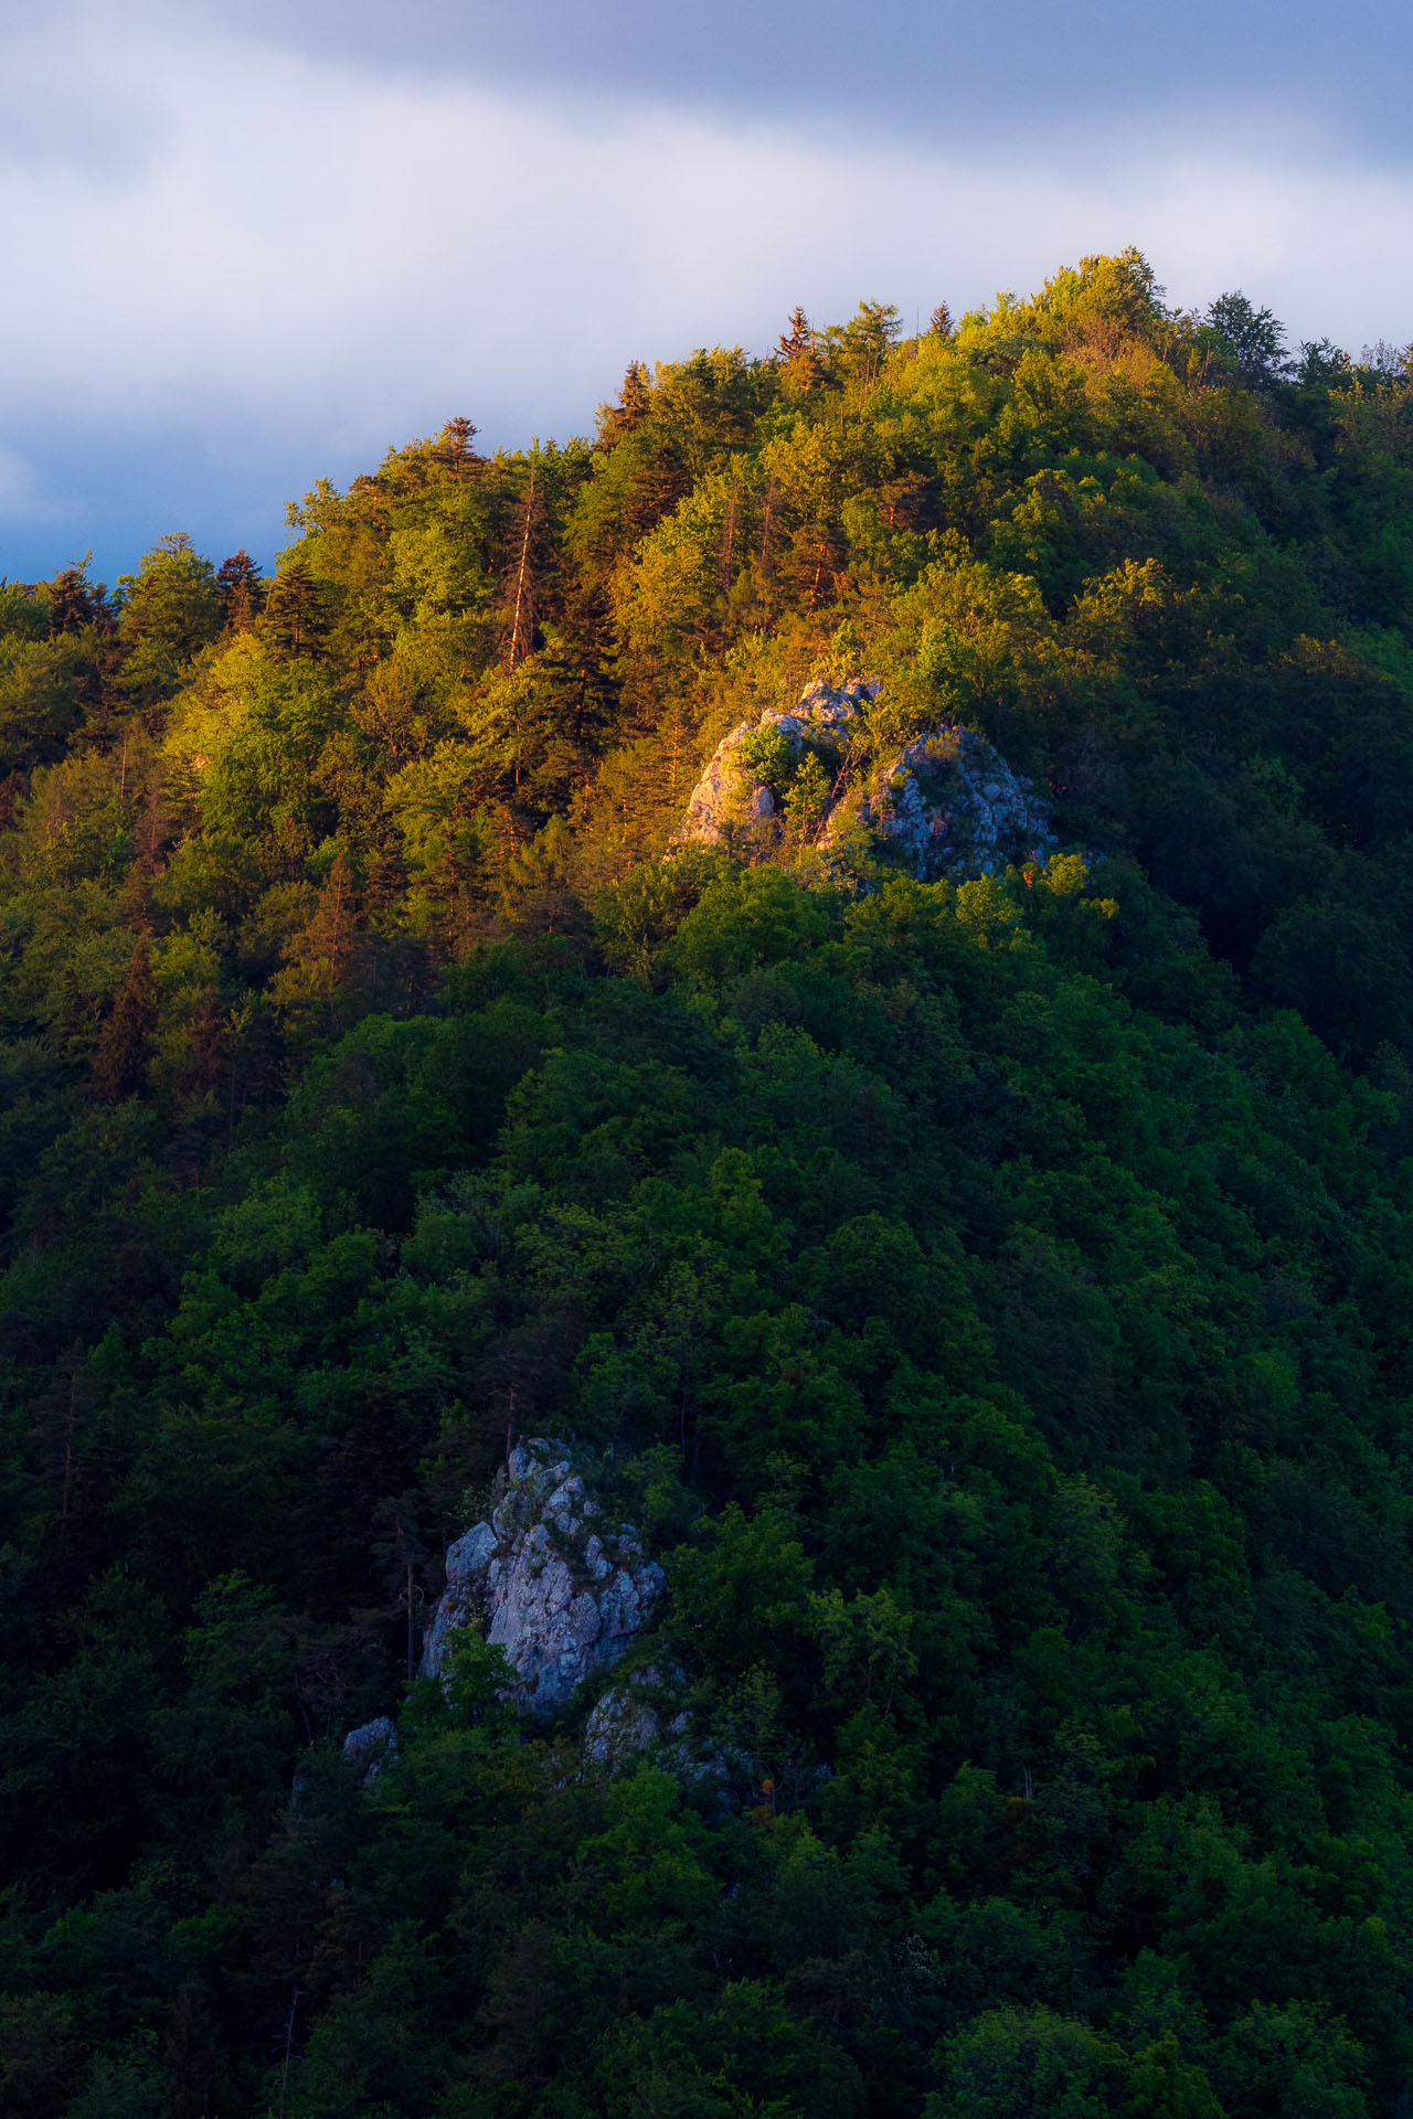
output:
<instances>
[{"instance_id":1,"label":"entire cloudy blue and white sky above the forested hill","mask_svg":"<svg viewBox=\"0 0 1413 2119\"><path fill-rule=\"evenodd\" d=\"M911 324L1138 244L1169 301L1413 339L1392 0L0 0L0 576L286 502L633 358Z\"/></svg>"}]
</instances>

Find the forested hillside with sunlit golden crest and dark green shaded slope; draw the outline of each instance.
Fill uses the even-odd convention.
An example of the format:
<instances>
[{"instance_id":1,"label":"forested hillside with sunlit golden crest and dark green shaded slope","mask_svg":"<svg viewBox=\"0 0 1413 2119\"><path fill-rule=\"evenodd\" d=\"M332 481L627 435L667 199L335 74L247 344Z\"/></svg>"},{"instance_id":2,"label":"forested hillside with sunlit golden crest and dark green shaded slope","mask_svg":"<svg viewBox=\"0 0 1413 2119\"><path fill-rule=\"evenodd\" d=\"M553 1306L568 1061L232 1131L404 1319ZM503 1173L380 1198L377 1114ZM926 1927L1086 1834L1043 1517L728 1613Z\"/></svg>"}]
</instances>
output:
<instances>
[{"instance_id":1,"label":"forested hillside with sunlit golden crest and dark green shaded slope","mask_svg":"<svg viewBox=\"0 0 1413 2119\"><path fill-rule=\"evenodd\" d=\"M1407 362L1127 252L290 534L0 587L0 2111L1405 2113ZM1059 852L674 845L849 676ZM415 1676L534 1437L712 1769Z\"/></svg>"}]
</instances>

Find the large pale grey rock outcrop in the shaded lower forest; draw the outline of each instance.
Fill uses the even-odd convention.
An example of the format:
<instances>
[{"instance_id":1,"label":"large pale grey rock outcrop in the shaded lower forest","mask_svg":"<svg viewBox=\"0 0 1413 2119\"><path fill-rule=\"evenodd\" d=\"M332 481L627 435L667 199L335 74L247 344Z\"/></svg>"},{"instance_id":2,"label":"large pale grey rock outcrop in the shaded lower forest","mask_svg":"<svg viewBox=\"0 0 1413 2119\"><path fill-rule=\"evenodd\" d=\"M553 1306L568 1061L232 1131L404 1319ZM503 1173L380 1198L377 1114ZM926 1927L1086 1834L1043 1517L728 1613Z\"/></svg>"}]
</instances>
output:
<instances>
[{"instance_id":1,"label":"large pale grey rock outcrop in the shaded lower forest","mask_svg":"<svg viewBox=\"0 0 1413 2119\"><path fill-rule=\"evenodd\" d=\"M489 1521L447 1553L422 1676L439 1678L451 1632L479 1619L515 1670L515 1702L553 1714L580 1678L616 1663L661 1593L663 1570L631 1524L604 1521L566 1445L521 1443Z\"/></svg>"}]
</instances>

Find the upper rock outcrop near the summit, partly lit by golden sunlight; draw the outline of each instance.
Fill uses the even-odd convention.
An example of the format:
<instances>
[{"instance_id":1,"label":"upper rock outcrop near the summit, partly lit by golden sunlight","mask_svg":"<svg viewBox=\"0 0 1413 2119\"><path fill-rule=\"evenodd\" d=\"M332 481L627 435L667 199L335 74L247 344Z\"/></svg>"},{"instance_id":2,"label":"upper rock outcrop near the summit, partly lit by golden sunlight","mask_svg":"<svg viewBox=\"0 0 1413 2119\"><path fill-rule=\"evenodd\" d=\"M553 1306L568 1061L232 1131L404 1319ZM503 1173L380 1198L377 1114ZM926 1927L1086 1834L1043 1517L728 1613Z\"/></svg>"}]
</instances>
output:
<instances>
[{"instance_id":1,"label":"upper rock outcrop near the summit, partly lit by golden sunlight","mask_svg":"<svg viewBox=\"0 0 1413 2119\"><path fill-rule=\"evenodd\" d=\"M678 843L782 837L775 797L748 763L750 737L775 731L797 759L807 748L830 759L830 801L816 835L826 852L862 829L919 882L996 875L1051 852L1055 835L1044 801L970 729L930 729L881 759L869 756L860 710L879 691L877 678L816 682L792 714L767 710L737 723L693 788Z\"/></svg>"}]
</instances>

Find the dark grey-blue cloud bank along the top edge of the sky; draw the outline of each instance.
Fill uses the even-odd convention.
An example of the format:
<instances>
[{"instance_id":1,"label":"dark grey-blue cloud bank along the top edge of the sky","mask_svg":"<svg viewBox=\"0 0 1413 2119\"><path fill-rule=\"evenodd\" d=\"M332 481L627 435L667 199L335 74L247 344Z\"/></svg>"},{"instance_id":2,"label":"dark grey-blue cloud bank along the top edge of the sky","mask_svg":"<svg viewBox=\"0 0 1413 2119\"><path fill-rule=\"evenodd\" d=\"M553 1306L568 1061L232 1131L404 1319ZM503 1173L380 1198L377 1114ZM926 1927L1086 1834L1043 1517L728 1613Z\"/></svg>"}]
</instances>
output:
<instances>
[{"instance_id":1,"label":"dark grey-blue cloud bank along the top edge of the sky","mask_svg":"<svg viewBox=\"0 0 1413 2119\"><path fill-rule=\"evenodd\" d=\"M222 0L146 0L220 28ZM193 13L195 11L195 13ZM97 8L100 17L104 8ZM1407 11L1392 0L246 0L242 21L320 59L470 74L568 95L854 114L938 144L1032 123L1224 100L1313 114L1360 155L1407 150Z\"/></svg>"}]
</instances>

